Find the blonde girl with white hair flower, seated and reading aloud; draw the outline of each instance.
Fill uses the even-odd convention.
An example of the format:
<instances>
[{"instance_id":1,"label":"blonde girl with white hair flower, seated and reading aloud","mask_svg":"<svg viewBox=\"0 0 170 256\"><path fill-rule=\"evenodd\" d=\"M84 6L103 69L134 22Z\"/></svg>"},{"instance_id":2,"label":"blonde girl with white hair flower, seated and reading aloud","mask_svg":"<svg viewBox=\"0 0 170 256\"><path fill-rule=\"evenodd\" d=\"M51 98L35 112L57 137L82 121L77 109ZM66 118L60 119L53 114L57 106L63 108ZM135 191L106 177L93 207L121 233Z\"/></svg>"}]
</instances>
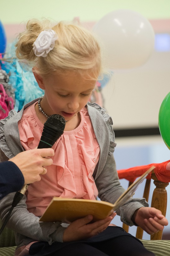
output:
<instances>
[{"instance_id":1,"label":"blonde girl with white hair flower, seated and reading aloud","mask_svg":"<svg viewBox=\"0 0 170 256\"><path fill-rule=\"evenodd\" d=\"M124 189L113 157L112 119L99 105L88 102L103 72L94 36L77 25L60 22L51 27L47 21L32 20L19 35L16 55L34 63L34 76L45 94L1 121L1 160L35 148L50 115L62 115L66 126L53 146L53 165L46 167L39 182L29 185L11 213L8 226L16 233L15 255L154 255L131 234L110 224L116 213L94 223L92 215L71 224L39 223L53 196L99 196L114 203ZM2 220L13 196L0 201ZM117 214L123 222L140 225L149 234L162 230L167 219L147 206L144 198L132 198Z\"/></svg>"}]
</instances>

